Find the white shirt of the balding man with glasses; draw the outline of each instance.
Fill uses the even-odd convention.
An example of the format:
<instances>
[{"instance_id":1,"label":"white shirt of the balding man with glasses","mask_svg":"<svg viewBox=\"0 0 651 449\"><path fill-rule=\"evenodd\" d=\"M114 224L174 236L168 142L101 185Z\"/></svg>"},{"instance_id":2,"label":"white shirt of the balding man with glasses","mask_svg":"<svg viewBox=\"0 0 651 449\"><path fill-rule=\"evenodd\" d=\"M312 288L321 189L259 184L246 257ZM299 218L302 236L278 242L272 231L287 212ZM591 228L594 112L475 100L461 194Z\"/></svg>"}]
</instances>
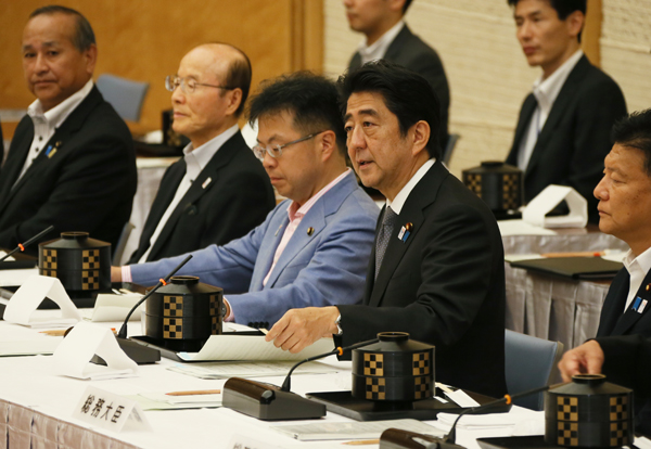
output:
<instances>
[{"instance_id":1,"label":"white shirt of the balding man with glasses","mask_svg":"<svg viewBox=\"0 0 651 449\"><path fill-rule=\"evenodd\" d=\"M240 128L238 128L238 125L233 125L216 138L213 138L212 140L207 141L206 143L196 149L192 146L192 143L189 143L183 149L183 159L186 161L186 176L183 176L183 179L181 179L181 182L177 188L176 194L174 195L171 203L169 203L169 206L167 206L165 214L163 214L163 217L161 217L158 226L156 227L156 230L150 239L149 248L138 260L138 264L146 261L146 258L149 257L150 253L152 252L152 248L154 247L154 243L156 243L156 239L158 239L158 235L161 235L161 232L163 232L163 228L165 228L167 220L169 220L169 217L171 216L174 210L177 208L186 193L188 193L188 191L190 190L192 182L194 182L194 180L201 174L201 171L206 167L206 165L208 165L208 163L217 153L217 151L221 147L221 145L224 145L230 138L232 138L239 131L239 129ZM206 182L209 182L208 179L206 179Z\"/></svg>"}]
</instances>

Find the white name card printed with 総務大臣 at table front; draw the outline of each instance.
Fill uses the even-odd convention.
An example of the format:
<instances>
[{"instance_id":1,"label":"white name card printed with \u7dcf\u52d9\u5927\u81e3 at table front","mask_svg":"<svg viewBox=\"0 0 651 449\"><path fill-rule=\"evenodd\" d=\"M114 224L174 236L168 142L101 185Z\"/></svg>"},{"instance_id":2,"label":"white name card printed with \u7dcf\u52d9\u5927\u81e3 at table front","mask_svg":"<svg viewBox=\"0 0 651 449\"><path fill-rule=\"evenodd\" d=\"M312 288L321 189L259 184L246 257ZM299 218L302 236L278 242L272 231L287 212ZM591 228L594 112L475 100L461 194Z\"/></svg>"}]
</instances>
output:
<instances>
[{"instance_id":1,"label":"white name card printed with \u7dcf\u52d9\u5927\u81e3 at table front","mask_svg":"<svg viewBox=\"0 0 651 449\"><path fill-rule=\"evenodd\" d=\"M120 432L125 426L129 429L152 429L137 401L93 386L86 388L73 418L113 432Z\"/></svg>"}]
</instances>

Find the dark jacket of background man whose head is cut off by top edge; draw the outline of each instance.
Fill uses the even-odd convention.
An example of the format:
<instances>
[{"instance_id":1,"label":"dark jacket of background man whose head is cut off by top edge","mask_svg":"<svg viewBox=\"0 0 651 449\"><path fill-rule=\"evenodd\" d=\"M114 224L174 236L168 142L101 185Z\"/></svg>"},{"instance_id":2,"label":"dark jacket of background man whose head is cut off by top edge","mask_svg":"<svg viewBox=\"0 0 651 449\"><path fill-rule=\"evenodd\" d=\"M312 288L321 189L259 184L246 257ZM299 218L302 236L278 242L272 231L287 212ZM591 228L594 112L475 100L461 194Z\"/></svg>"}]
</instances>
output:
<instances>
[{"instance_id":1,"label":"dark jacket of background man whose head is cut off by top edge","mask_svg":"<svg viewBox=\"0 0 651 449\"><path fill-rule=\"evenodd\" d=\"M405 27L386 49L384 59L405 68L422 75L432 86L441 101L441 147L444 149L448 140L448 116L450 107L450 88L445 76L443 63L436 51L427 46L421 38ZM356 52L348 63L348 70L361 66L361 56Z\"/></svg>"}]
</instances>

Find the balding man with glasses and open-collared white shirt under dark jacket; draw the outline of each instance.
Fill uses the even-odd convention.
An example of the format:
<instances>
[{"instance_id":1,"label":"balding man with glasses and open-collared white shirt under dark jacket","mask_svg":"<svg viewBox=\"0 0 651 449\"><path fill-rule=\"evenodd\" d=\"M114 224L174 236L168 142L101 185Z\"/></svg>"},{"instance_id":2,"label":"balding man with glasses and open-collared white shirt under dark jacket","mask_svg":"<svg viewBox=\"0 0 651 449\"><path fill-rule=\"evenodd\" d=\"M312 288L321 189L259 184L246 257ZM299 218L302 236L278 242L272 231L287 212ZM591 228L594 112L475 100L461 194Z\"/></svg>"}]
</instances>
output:
<instances>
[{"instance_id":1,"label":"balding man with glasses and open-collared white shirt under dark jacket","mask_svg":"<svg viewBox=\"0 0 651 449\"><path fill-rule=\"evenodd\" d=\"M165 172L129 264L224 245L273 208L269 177L238 128L250 86L248 57L226 43L196 47L167 77L173 128L190 144Z\"/></svg>"}]
</instances>

